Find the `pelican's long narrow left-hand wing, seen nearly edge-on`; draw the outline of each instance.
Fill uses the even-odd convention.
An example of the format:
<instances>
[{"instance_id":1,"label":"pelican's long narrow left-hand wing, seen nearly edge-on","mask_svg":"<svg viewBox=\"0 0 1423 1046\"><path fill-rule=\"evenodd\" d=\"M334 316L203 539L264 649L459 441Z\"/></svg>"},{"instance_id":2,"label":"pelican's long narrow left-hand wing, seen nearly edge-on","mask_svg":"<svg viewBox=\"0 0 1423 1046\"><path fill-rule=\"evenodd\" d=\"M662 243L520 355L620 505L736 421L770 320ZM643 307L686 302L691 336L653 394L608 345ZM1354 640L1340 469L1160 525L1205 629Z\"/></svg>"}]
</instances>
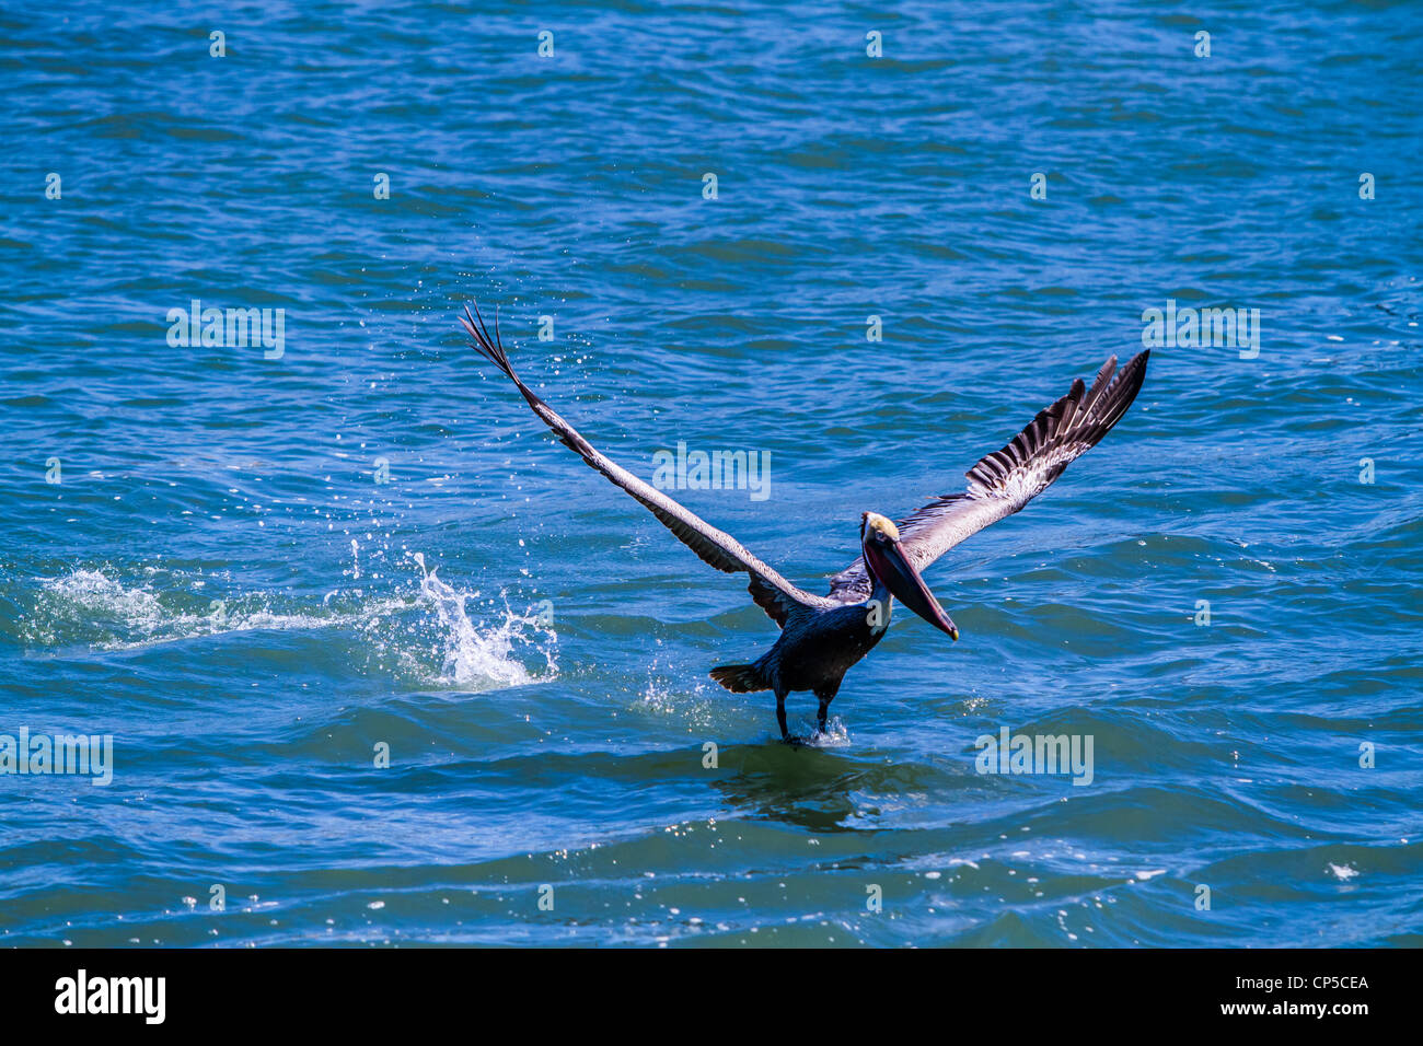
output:
<instances>
[{"instance_id":1,"label":"pelican's long narrow left-hand wing, seen nearly edge-on","mask_svg":"<svg viewBox=\"0 0 1423 1046\"><path fill-rule=\"evenodd\" d=\"M519 376L514 373L514 367L509 366L509 357L504 352L504 344L499 342L498 320L494 324L494 337L490 337L490 332L484 326L484 317L480 316L475 319L475 316L471 316L468 306L465 306L460 322L472 339L474 349L509 377L518 390L524 393L524 398L528 400L534 413L539 416L539 420L545 426L554 430L554 434L565 447L576 451L583 461L646 505L662 521L663 527L677 535L683 545L702 556L703 562L727 574L746 571L751 576L751 582L747 586L751 598L756 599L757 606L766 611L777 625L784 626L787 615L794 613L797 609L832 605L824 596L815 596L795 588L780 574L747 552L730 534L712 527L656 487L643 482L626 468L599 453L588 440L578 434L576 428L561 418L552 407L535 396L519 380Z\"/></svg>"}]
</instances>

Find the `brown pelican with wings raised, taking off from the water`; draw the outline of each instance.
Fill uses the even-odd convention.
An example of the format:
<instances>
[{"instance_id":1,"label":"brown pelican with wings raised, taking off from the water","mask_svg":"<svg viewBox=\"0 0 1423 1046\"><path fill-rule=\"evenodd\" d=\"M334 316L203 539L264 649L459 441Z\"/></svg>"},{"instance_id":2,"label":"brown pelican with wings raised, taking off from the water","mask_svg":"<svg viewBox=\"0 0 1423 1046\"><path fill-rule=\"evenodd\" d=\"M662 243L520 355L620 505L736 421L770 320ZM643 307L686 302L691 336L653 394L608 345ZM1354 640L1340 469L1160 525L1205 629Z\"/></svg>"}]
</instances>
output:
<instances>
[{"instance_id":1,"label":"brown pelican with wings raised, taking off from the water","mask_svg":"<svg viewBox=\"0 0 1423 1046\"><path fill-rule=\"evenodd\" d=\"M697 518L579 435L514 373L499 340L498 316L492 337L478 307L471 315L465 306L460 322L474 349L505 373L565 447L646 505L704 562L727 574L750 575L751 598L781 626L781 635L756 662L712 669L712 679L736 693L774 692L776 719L787 741L794 739L785 729L785 694L810 690L820 699L822 733L840 682L884 636L895 599L951 639L959 638L958 628L924 583L921 571L969 535L1020 509L1047 490L1073 460L1096 445L1137 397L1150 356L1150 352L1134 356L1120 373L1113 356L1097 371L1091 389L1076 379L1067 394L1039 411L1012 443L968 471L968 490L962 494L938 497L898 522L878 512L864 512L859 517L862 555L830 579L828 595L817 596L785 581L730 534Z\"/></svg>"}]
</instances>

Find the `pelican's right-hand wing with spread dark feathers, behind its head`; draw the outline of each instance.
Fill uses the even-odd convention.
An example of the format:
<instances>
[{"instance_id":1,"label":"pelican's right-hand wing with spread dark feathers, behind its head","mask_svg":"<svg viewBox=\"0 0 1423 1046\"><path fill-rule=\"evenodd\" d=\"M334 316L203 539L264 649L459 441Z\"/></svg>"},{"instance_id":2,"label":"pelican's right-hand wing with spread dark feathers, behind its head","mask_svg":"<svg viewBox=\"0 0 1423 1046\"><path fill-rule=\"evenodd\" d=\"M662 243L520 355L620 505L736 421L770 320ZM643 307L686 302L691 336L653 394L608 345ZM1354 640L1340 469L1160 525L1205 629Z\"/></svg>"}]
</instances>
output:
<instances>
[{"instance_id":1,"label":"pelican's right-hand wing with spread dark feathers, behind its head","mask_svg":"<svg viewBox=\"0 0 1423 1046\"><path fill-rule=\"evenodd\" d=\"M1074 380L1072 390L1040 411L1010 444L968 471L969 487L963 494L935 498L899 519L899 538L915 568L922 571L965 538L1012 515L1047 490L1127 413L1146 379L1150 354L1134 356L1120 374L1113 356L1097 371L1091 389L1086 389L1081 379ZM830 579L831 598L841 601L864 598L869 588L862 556Z\"/></svg>"}]
</instances>

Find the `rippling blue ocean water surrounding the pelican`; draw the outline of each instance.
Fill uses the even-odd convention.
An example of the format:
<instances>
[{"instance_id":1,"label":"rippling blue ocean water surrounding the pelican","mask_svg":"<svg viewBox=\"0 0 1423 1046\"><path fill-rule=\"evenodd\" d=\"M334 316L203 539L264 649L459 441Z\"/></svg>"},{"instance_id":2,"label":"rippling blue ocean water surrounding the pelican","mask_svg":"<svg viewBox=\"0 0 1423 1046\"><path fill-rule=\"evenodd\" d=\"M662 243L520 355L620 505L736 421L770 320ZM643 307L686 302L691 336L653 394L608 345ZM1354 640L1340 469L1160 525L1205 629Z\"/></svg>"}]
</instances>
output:
<instances>
[{"instance_id":1,"label":"rippling blue ocean water surrounding the pelican","mask_svg":"<svg viewBox=\"0 0 1423 1046\"><path fill-rule=\"evenodd\" d=\"M7 7L0 734L112 780L0 774L0 944L1423 944L1420 30ZM1157 347L929 571L962 640L901 611L793 749L706 675L774 625L467 300L639 475L767 461L672 492L817 592L1150 310L1258 326Z\"/></svg>"}]
</instances>

